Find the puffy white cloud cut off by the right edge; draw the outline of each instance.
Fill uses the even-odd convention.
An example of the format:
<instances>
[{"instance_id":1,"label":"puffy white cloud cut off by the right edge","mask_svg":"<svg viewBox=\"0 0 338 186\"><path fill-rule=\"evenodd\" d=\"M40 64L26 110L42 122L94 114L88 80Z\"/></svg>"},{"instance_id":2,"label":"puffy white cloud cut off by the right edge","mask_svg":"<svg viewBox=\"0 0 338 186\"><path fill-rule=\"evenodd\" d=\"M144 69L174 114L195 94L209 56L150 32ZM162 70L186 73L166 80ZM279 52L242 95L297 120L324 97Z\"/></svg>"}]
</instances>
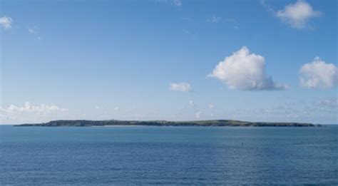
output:
<instances>
[{"instance_id":1,"label":"puffy white cloud cut off by the right edge","mask_svg":"<svg viewBox=\"0 0 338 186\"><path fill-rule=\"evenodd\" d=\"M300 68L300 85L306 88L332 88L338 85L338 68L319 57Z\"/></svg>"}]
</instances>

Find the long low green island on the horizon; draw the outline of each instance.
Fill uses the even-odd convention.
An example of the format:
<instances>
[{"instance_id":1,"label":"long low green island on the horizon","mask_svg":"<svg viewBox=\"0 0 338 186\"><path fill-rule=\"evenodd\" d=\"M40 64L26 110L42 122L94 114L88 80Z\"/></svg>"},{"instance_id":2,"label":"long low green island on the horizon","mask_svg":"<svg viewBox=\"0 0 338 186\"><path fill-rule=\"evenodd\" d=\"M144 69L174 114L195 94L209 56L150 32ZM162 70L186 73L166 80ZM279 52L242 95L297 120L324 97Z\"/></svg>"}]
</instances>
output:
<instances>
[{"instance_id":1,"label":"long low green island on the horizon","mask_svg":"<svg viewBox=\"0 0 338 186\"><path fill-rule=\"evenodd\" d=\"M312 123L270 123L240 120L52 120L48 123L21 124L14 126L43 127L93 127L93 126L242 126L242 127L314 127Z\"/></svg>"}]
</instances>

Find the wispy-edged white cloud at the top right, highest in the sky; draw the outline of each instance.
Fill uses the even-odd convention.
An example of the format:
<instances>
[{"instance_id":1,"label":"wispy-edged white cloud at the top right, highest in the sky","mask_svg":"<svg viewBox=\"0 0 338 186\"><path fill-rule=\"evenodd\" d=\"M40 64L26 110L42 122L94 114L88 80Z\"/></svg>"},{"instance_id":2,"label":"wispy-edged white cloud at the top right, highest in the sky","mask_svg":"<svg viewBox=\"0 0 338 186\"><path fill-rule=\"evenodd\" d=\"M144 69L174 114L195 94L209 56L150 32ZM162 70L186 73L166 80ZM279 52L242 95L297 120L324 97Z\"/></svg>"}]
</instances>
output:
<instances>
[{"instance_id":1,"label":"wispy-edged white cloud at the top right, highest in the sky","mask_svg":"<svg viewBox=\"0 0 338 186\"><path fill-rule=\"evenodd\" d=\"M293 28L303 29L307 26L309 19L318 17L320 14L320 11L314 11L306 1L299 0L277 11L276 16Z\"/></svg>"}]
</instances>

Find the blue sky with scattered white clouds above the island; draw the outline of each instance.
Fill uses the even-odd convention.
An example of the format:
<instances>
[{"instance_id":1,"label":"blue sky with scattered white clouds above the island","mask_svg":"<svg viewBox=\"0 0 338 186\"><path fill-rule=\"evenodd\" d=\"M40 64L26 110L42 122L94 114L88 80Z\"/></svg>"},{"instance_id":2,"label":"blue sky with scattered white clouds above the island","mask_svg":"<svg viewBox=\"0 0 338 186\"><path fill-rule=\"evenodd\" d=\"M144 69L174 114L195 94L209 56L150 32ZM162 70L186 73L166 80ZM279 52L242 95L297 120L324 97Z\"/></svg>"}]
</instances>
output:
<instances>
[{"instance_id":1,"label":"blue sky with scattered white clouds above the island","mask_svg":"<svg viewBox=\"0 0 338 186\"><path fill-rule=\"evenodd\" d=\"M0 0L0 123L338 123L334 0Z\"/></svg>"}]
</instances>

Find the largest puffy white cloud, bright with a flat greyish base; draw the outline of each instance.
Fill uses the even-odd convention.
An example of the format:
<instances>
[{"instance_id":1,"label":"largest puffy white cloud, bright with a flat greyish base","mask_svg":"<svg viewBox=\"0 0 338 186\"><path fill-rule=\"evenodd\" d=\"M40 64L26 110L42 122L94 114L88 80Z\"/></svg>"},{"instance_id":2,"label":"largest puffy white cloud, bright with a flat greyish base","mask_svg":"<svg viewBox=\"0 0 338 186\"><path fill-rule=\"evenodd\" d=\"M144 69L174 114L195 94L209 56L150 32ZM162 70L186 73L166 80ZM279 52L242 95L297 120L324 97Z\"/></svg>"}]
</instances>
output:
<instances>
[{"instance_id":1,"label":"largest puffy white cloud, bright with a flat greyish base","mask_svg":"<svg viewBox=\"0 0 338 186\"><path fill-rule=\"evenodd\" d=\"M232 89L262 91L286 88L265 75L265 58L250 53L246 46L220 61L208 76L220 79Z\"/></svg>"}]
</instances>

